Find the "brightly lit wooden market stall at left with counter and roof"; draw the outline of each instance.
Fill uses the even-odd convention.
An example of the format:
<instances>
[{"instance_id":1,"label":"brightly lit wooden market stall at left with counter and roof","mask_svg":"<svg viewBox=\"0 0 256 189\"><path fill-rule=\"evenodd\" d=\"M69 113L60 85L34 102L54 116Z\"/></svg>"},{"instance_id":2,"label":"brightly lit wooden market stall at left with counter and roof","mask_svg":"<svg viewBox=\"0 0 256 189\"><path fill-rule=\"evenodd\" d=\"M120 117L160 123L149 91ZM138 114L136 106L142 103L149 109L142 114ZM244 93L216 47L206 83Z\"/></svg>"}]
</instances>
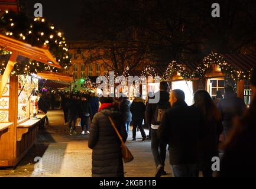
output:
<instances>
[{"instance_id":1,"label":"brightly lit wooden market stall at left with counter and roof","mask_svg":"<svg viewBox=\"0 0 256 189\"><path fill-rule=\"evenodd\" d=\"M33 47L0 35L0 48L11 57L0 83L0 167L15 167L37 140L38 125L45 115L33 119L31 95L38 87L33 76L15 76L11 71L18 56L61 68L45 48Z\"/></svg>"}]
</instances>

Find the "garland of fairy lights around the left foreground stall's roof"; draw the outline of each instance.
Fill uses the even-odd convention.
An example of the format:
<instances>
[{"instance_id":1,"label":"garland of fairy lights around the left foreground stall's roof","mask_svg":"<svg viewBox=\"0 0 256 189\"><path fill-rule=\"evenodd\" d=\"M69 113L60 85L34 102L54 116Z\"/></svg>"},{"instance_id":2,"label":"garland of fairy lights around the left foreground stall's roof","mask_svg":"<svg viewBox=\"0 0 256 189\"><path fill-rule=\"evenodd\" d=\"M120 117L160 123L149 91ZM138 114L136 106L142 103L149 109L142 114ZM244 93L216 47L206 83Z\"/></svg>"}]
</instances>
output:
<instances>
[{"instance_id":1,"label":"garland of fairy lights around the left foreground stall's roof","mask_svg":"<svg viewBox=\"0 0 256 189\"><path fill-rule=\"evenodd\" d=\"M71 64L71 55L67 48L63 32L56 30L45 18L30 18L24 12L0 11L0 33L16 40L24 41L36 47L48 48L62 69ZM4 73L11 52L0 48L0 74ZM46 66L34 60L18 60L11 75L31 74L39 71L60 72L52 66Z\"/></svg>"}]
</instances>

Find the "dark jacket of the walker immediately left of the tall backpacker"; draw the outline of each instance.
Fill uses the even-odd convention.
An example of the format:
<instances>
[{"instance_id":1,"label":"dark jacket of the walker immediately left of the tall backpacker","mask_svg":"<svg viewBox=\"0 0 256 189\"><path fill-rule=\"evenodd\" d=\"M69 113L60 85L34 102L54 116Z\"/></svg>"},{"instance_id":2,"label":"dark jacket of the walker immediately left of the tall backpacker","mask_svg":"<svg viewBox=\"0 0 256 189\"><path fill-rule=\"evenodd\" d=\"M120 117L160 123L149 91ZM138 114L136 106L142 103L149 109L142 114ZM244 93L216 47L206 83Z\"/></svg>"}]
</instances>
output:
<instances>
[{"instance_id":1,"label":"dark jacket of the walker immediately left of the tall backpacker","mask_svg":"<svg viewBox=\"0 0 256 189\"><path fill-rule=\"evenodd\" d=\"M146 107L144 104L144 100L140 97L136 97L130 107L130 111L132 113L132 120L144 119L145 110Z\"/></svg>"}]
</instances>

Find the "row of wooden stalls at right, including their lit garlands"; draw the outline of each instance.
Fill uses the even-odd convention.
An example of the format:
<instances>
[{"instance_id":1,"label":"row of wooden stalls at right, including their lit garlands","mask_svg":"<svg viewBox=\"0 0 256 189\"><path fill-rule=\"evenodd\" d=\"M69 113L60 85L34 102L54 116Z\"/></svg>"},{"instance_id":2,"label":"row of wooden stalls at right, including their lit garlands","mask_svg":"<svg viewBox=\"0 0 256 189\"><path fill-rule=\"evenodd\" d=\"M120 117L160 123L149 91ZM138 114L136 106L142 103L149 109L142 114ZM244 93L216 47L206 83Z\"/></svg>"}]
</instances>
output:
<instances>
[{"instance_id":1,"label":"row of wooden stalls at right, including their lit garlands","mask_svg":"<svg viewBox=\"0 0 256 189\"><path fill-rule=\"evenodd\" d=\"M238 97L249 105L251 90L248 80L255 66L255 54L210 53L200 64L172 61L163 79L170 82L172 90L182 89L189 105L193 104L193 94L197 90L207 90L214 98L218 90L224 94L226 84L233 86Z\"/></svg>"}]
</instances>

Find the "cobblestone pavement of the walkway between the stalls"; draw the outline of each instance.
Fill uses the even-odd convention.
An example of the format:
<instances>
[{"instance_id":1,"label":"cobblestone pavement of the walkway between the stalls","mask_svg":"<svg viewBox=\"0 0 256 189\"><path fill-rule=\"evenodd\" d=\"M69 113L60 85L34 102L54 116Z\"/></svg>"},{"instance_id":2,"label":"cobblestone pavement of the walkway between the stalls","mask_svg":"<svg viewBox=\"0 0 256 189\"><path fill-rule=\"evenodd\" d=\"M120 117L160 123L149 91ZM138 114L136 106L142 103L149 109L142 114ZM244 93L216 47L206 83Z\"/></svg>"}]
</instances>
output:
<instances>
[{"instance_id":1,"label":"cobblestone pavement of the walkway between the stalls","mask_svg":"<svg viewBox=\"0 0 256 189\"><path fill-rule=\"evenodd\" d=\"M0 177L91 177L89 136L68 135L61 110L48 112L48 119L50 126L39 131L37 144L16 168L0 170ZM80 128L77 133L80 133ZM124 164L125 177L154 177L151 142L141 142L140 132L137 137L137 141L132 141L131 135L128 137L127 146L134 155L134 161ZM172 177L168 155L166 171L169 174L164 177Z\"/></svg>"}]
</instances>

